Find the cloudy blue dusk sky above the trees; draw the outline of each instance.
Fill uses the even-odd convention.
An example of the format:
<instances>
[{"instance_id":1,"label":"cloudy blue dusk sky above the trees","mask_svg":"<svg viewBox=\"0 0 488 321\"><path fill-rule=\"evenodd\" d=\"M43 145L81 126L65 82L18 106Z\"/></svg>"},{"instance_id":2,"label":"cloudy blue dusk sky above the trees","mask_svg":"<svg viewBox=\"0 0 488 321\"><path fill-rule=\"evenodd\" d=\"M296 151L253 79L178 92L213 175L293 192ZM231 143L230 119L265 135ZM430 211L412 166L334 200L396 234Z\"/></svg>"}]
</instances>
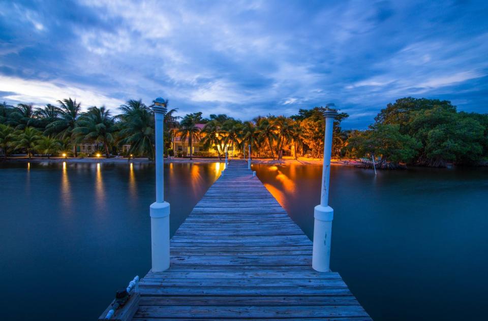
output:
<instances>
[{"instance_id":1,"label":"cloudy blue dusk sky above the trees","mask_svg":"<svg viewBox=\"0 0 488 321\"><path fill-rule=\"evenodd\" d=\"M243 120L412 96L488 112L488 1L0 1L0 101Z\"/></svg>"}]
</instances>

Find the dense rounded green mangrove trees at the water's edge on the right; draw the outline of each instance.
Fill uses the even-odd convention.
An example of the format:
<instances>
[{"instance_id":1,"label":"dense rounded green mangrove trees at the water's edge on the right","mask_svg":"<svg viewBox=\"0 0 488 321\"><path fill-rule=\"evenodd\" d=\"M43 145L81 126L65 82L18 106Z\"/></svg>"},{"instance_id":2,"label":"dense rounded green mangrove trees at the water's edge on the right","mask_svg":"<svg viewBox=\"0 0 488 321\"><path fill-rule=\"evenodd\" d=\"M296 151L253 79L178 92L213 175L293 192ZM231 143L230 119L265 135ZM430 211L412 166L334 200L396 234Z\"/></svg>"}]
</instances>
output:
<instances>
[{"instance_id":1,"label":"dense rounded green mangrove trees at the water's edge on the right","mask_svg":"<svg viewBox=\"0 0 488 321\"><path fill-rule=\"evenodd\" d=\"M488 114L458 112L449 101L402 98L382 109L368 130L350 132L345 150L377 156L380 168L486 164Z\"/></svg>"}]
</instances>

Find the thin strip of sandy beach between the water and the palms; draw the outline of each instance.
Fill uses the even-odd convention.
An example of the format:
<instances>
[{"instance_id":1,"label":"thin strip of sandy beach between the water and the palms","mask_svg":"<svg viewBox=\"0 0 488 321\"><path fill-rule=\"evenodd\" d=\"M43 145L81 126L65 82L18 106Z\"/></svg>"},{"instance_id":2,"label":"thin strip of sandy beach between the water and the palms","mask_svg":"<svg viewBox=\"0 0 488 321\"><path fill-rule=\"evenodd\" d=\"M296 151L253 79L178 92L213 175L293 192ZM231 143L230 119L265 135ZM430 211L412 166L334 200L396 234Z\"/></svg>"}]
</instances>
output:
<instances>
[{"instance_id":1,"label":"thin strip of sandy beach between the water and the palms","mask_svg":"<svg viewBox=\"0 0 488 321\"><path fill-rule=\"evenodd\" d=\"M232 158L229 158L232 161ZM235 157L234 159L242 159ZM104 164L127 164L127 163L153 163L150 162L147 158L104 158L104 157L84 157L84 158L75 158L75 157L32 157L29 159L28 157L10 157L7 158L6 161L0 161L0 163L104 163ZM165 163L215 163L219 162L219 158L199 158L193 157L190 158L165 158ZM220 160L220 162L224 162L224 158ZM273 160L272 158L253 158L252 160L255 164L269 164L269 165L285 165L285 164L300 164L300 165L322 165L323 160L321 158L289 158L285 157L278 161L278 159ZM343 166L355 166L360 164L359 162L355 161L354 159L332 159L331 165L343 165Z\"/></svg>"}]
</instances>

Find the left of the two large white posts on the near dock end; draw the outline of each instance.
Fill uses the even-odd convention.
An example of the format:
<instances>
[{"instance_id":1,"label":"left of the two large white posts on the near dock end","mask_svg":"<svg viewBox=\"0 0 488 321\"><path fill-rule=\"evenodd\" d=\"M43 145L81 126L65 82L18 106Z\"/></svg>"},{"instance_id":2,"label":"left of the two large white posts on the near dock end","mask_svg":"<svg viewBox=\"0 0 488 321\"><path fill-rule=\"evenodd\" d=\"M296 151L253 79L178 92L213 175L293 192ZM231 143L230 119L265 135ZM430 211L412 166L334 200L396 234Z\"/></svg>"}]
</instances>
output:
<instances>
[{"instance_id":1,"label":"left of the two large white posts on the near dock end","mask_svg":"<svg viewBox=\"0 0 488 321\"><path fill-rule=\"evenodd\" d=\"M169 268L169 203L164 201L164 141L163 125L166 101L155 100L153 107L156 121L156 202L149 207L151 216L151 255L153 272Z\"/></svg>"}]
</instances>

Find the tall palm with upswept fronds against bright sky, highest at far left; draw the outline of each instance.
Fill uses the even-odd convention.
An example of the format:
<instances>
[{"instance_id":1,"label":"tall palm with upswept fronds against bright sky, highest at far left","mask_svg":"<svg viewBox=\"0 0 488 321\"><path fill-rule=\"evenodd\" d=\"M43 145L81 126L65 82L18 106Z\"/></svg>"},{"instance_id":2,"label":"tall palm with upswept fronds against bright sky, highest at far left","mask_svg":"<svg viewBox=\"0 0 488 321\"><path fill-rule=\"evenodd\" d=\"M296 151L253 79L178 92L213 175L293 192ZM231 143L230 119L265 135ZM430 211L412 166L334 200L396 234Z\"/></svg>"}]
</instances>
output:
<instances>
[{"instance_id":1,"label":"tall palm with upswept fronds against bright sky, highest at far left","mask_svg":"<svg viewBox=\"0 0 488 321\"><path fill-rule=\"evenodd\" d=\"M77 103L76 100L72 100L71 98L57 102L59 103L60 119L47 125L44 134L58 134L58 138L65 139L66 137L71 137L73 134L73 130L76 127L76 121L81 112L81 103ZM73 147L75 157L77 157L76 143Z\"/></svg>"}]
</instances>

